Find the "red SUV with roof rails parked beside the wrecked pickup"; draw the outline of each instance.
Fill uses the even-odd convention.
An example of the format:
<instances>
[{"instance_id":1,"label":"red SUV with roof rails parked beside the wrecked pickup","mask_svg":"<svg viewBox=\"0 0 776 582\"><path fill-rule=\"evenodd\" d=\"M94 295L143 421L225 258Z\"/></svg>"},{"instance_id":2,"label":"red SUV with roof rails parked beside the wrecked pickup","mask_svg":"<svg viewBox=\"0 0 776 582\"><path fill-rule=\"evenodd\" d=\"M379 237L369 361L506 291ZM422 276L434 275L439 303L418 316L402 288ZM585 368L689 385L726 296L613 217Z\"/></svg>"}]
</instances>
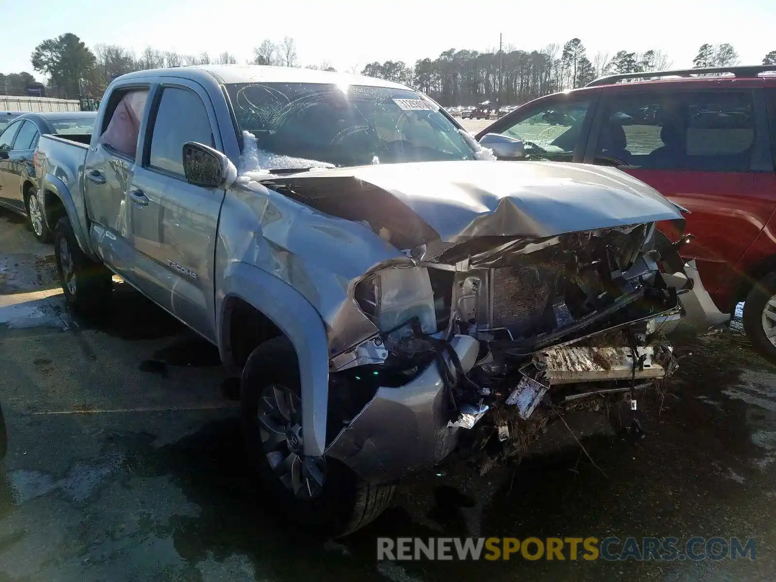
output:
<instances>
[{"instance_id":1,"label":"red SUV with roof rails parked beside the wrecked pickup","mask_svg":"<svg viewBox=\"0 0 776 582\"><path fill-rule=\"evenodd\" d=\"M611 75L535 99L477 139L518 138L522 159L615 165L689 210L695 240L682 255L718 315L746 300L747 334L776 362L776 74L766 71L776 66Z\"/></svg>"}]
</instances>

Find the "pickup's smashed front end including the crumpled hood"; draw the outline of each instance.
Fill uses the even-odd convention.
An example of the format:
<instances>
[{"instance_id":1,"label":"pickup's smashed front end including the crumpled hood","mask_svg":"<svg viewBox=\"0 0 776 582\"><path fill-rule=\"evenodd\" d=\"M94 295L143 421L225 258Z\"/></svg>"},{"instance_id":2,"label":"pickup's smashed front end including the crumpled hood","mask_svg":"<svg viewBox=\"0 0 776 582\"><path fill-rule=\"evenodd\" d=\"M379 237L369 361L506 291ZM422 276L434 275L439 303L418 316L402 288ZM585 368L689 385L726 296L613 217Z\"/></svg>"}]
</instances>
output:
<instances>
[{"instance_id":1,"label":"pickup's smashed front end including the crumpled hood","mask_svg":"<svg viewBox=\"0 0 776 582\"><path fill-rule=\"evenodd\" d=\"M262 183L313 209L305 240L363 228L361 247L310 257L337 269L341 295L320 300L328 268L308 297L329 334L325 454L367 480L456 449L487 468L676 369L660 329L691 281L655 225L684 220L624 172L456 161Z\"/></svg>"}]
</instances>

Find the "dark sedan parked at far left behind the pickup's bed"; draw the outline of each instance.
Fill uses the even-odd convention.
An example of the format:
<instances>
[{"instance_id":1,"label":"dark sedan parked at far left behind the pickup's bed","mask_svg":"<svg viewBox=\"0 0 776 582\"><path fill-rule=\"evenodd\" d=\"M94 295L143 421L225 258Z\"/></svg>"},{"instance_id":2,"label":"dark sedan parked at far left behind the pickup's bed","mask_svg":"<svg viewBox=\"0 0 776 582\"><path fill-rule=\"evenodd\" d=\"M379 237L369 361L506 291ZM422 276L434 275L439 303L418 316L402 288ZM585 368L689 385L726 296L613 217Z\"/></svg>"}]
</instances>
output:
<instances>
[{"instance_id":1,"label":"dark sedan parked at far left behind the pickup's bed","mask_svg":"<svg viewBox=\"0 0 776 582\"><path fill-rule=\"evenodd\" d=\"M44 133L66 135L68 139L91 136L96 116L93 111L23 113L0 133L0 206L26 216L41 242L49 241L51 232L36 196L33 153L38 138Z\"/></svg>"}]
</instances>

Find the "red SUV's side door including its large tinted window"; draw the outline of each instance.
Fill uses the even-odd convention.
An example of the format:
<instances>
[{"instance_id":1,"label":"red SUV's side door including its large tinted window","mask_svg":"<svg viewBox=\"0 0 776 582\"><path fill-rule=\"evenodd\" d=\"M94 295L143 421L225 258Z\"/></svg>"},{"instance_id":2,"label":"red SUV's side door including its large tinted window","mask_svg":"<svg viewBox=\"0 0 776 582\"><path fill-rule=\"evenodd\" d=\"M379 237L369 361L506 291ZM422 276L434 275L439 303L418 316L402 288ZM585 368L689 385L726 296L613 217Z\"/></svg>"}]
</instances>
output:
<instances>
[{"instance_id":1,"label":"red SUV's side door including its large tinted window","mask_svg":"<svg viewBox=\"0 0 776 582\"><path fill-rule=\"evenodd\" d=\"M605 93L584 160L622 161L623 171L690 210L684 247L710 293L735 281L734 266L774 211L773 164L762 89ZM718 306L724 309L727 306Z\"/></svg>"}]
</instances>

